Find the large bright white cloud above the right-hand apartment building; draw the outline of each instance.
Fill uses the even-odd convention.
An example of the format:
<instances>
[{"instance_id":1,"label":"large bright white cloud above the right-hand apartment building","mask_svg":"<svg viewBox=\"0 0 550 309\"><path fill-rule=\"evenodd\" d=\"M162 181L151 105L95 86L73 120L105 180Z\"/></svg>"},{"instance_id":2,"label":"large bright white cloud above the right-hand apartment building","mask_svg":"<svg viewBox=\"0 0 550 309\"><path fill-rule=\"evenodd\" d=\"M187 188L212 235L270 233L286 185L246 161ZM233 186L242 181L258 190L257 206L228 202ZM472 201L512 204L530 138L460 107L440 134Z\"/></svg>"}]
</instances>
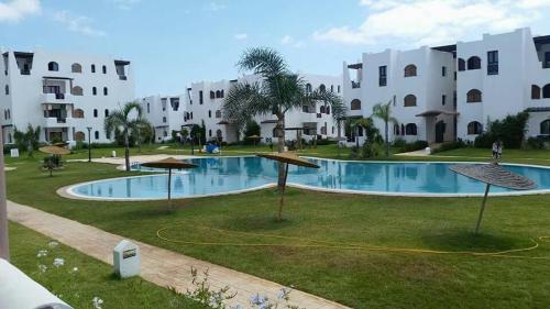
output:
<instances>
[{"instance_id":1,"label":"large bright white cloud above the right-hand apartment building","mask_svg":"<svg viewBox=\"0 0 550 309\"><path fill-rule=\"evenodd\" d=\"M316 31L314 38L343 44L444 44L528 25L543 16L550 0L360 0L360 5L369 9L369 15L359 27Z\"/></svg>"}]
</instances>

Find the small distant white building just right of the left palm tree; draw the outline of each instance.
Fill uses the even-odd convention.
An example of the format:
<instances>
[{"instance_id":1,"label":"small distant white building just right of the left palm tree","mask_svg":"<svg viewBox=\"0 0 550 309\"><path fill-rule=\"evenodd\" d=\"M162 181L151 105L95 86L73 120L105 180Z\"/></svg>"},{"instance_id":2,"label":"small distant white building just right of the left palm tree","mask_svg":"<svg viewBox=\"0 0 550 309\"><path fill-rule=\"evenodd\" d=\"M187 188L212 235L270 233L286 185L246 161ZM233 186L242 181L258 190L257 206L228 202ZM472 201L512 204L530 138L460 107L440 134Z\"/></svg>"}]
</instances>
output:
<instances>
[{"instance_id":1,"label":"small distant white building just right of the left palm tree","mask_svg":"<svg viewBox=\"0 0 550 309\"><path fill-rule=\"evenodd\" d=\"M138 101L155 130L155 142L169 141L172 132L180 132L187 123L185 96L151 96Z\"/></svg>"}]
</instances>

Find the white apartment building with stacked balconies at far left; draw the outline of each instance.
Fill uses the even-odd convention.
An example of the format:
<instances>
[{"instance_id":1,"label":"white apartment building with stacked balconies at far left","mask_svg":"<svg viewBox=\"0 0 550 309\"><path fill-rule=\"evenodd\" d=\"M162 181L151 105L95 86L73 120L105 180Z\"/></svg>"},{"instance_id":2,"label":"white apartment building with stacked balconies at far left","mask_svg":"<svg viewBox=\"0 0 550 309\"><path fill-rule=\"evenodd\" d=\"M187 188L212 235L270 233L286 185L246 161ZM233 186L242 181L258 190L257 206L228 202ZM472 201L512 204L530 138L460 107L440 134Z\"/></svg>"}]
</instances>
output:
<instances>
[{"instance_id":1,"label":"white apartment building with stacked balconies at far left","mask_svg":"<svg viewBox=\"0 0 550 309\"><path fill-rule=\"evenodd\" d=\"M40 125L41 141L110 142L110 111L134 100L130 62L111 56L0 51L0 123L4 143L13 130Z\"/></svg>"}]
</instances>

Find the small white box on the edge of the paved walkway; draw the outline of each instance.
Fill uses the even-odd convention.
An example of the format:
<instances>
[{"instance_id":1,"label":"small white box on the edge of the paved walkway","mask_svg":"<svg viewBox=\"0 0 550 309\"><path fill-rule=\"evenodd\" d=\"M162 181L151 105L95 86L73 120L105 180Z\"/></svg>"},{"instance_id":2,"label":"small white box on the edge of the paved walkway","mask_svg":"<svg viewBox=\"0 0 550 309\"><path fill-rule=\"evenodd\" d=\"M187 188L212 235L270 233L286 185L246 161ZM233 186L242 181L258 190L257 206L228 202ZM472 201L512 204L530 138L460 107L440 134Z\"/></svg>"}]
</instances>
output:
<instances>
[{"instance_id":1,"label":"small white box on the edge of the paved walkway","mask_svg":"<svg viewBox=\"0 0 550 309\"><path fill-rule=\"evenodd\" d=\"M121 278L140 275L140 247L130 241L121 241L112 251L112 262L114 273Z\"/></svg>"}]
</instances>

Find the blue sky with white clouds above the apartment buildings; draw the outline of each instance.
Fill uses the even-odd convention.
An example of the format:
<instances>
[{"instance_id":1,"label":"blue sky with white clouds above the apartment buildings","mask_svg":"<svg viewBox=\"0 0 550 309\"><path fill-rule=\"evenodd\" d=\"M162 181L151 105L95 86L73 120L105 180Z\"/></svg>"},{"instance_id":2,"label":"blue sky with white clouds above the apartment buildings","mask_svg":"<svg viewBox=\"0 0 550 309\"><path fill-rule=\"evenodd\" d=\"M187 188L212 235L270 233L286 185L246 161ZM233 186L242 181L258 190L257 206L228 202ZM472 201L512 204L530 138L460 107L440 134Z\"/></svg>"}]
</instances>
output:
<instances>
[{"instance_id":1,"label":"blue sky with white clouds above the apartment buildings","mask_svg":"<svg viewBox=\"0 0 550 309\"><path fill-rule=\"evenodd\" d=\"M0 0L0 47L129 59L138 97L234 79L249 47L277 49L293 70L340 75L362 53L521 26L550 34L550 0Z\"/></svg>"}]
</instances>

